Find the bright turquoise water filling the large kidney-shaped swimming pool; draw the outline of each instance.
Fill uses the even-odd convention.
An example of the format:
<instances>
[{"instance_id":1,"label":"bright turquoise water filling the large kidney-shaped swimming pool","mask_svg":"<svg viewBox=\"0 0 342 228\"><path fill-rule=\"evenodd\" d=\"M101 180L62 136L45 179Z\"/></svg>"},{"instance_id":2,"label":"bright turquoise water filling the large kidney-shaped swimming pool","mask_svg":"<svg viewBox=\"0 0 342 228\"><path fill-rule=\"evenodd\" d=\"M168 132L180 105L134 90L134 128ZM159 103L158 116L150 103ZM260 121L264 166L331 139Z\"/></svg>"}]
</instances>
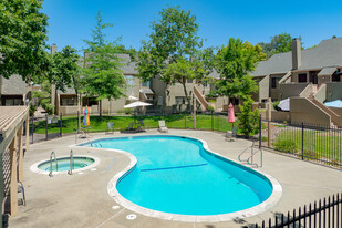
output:
<instances>
[{"instance_id":1,"label":"bright turquoise water filling the large kidney-shaped swimming pool","mask_svg":"<svg viewBox=\"0 0 342 228\"><path fill-rule=\"evenodd\" d=\"M139 136L85 145L132 153L137 158L136 167L116 188L129 201L153 210L227 214L253 207L272 193L272 185L265 176L207 152L197 139Z\"/></svg>"}]
</instances>

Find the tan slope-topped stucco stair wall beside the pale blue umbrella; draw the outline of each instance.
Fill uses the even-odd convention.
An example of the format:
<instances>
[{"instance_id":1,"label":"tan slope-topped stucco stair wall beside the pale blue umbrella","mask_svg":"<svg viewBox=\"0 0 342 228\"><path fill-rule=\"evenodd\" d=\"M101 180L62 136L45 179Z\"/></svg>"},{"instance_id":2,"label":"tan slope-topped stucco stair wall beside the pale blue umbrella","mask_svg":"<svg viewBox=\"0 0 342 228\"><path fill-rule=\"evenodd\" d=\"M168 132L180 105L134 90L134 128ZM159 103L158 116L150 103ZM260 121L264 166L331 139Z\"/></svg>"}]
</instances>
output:
<instances>
[{"instance_id":1,"label":"tan slope-topped stucco stair wall beside the pale blue umbrella","mask_svg":"<svg viewBox=\"0 0 342 228\"><path fill-rule=\"evenodd\" d=\"M331 117L324 111L305 97L290 99L291 123L324 124L331 123Z\"/></svg>"}]
</instances>

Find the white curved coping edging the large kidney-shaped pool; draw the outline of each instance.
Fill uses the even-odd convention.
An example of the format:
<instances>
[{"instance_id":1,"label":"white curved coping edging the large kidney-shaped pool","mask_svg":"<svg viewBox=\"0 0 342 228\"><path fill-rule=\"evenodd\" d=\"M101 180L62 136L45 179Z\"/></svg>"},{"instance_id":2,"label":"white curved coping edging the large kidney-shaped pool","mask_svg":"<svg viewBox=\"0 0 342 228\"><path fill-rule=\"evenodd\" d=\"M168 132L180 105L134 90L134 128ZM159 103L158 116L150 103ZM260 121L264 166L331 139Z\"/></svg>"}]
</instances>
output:
<instances>
[{"instance_id":1,"label":"white curved coping edging the large kidney-shaped pool","mask_svg":"<svg viewBox=\"0 0 342 228\"><path fill-rule=\"evenodd\" d=\"M262 201L259 205L256 205L251 208L245 209L245 210L239 210L239 211L235 211L235 213L228 213L228 214L219 214L219 215L210 215L210 216L194 216L194 215L179 215L179 214L170 214L170 213L164 213L164 211L158 211L158 210L153 210L153 209L148 209L142 206L138 206L129 200L127 200L126 198L124 198L116 189L116 185L118 184L118 182L124 178L126 175L128 175L136 166L137 159L136 157L125 151L122 149L112 149L112 148L101 148L104 151L113 151L116 153L121 153L126 155L129 158L129 164L122 169L121 172L116 173L108 182L107 184L107 193L110 194L110 196L121 206L142 214L144 216L148 216L148 217L154 217L154 218L160 218L160 219L165 219L165 220L174 220L174 221L185 221L185 222L219 222L219 221L229 221L229 220L236 220L236 219L243 219L247 217L251 217L251 216L256 216L260 213L263 213L270 208L272 208L273 206L276 206L278 204L278 201L280 200L281 196L282 196L282 187L280 185L280 183L272 177L269 174L266 174L261 170L257 170L253 169L252 167L248 167L235 159L230 159L227 158L225 156L222 156L221 154L218 154L216 152L213 152L211 149L209 149L208 143L206 141L203 141L200 138L196 138L196 137L189 137L189 136L183 136L183 135L165 135L165 136L174 136L174 137L187 137L190 139L196 139L199 141L203 144L203 147L208 152L211 153L214 155L217 155L219 157L222 157L224 159L228 159L234 162L235 164L237 164L238 166L245 166L246 168L249 168L256 173L259 173L261 175L263 175L266 178L268 178L268 180L271 183L272 185L272 194L269 196L268 199L266 199L265 201ZM121 136L121 137L125 137L125 136ZM136 136L129 136L129 137L136 137ZM137 136L137 137L155 137L155 135L144 135L144 136ZM99 139L108 139L108 138L117 138L117 137L104 137L104 138L97 138L95 141ZM76 147L81 147L81 144L77 145L73 145ZM83 148L85 146L82 146ZM87 148L93 148L93 147L87 147ZM100 149L100 148L97 148Z\"/></svg>"}]
</instances>

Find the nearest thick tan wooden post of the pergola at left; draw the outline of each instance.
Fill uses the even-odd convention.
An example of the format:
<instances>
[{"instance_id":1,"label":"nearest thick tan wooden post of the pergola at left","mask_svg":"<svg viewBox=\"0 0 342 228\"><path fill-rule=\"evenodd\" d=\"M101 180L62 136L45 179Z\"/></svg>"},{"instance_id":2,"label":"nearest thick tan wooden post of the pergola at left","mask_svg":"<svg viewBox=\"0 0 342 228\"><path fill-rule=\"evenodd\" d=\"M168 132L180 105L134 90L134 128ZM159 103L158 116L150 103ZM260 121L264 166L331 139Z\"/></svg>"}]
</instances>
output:
<instances>
[{"instance_id":1,"label":"nearest thick tan wooden post of the pergola at left","mask_svg":"<svg viewBox=\"0 0 342 228\"><path fill-rule=\"evenodd\" d=\"M11 183L10 183L10 214L11 216L18 215L18 184L17 184L17 135L10 144L10 170L11 170Z\"/></svg>"}]
</instances>

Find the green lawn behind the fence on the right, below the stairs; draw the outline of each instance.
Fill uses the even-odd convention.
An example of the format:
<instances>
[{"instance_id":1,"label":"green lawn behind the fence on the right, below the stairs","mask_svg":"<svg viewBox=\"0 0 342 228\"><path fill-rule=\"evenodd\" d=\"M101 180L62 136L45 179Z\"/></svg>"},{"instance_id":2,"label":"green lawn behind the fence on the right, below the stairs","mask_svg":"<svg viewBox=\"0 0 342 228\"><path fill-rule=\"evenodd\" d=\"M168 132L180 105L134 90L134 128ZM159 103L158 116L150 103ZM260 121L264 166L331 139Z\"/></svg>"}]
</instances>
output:
<instances>
[{"instance_id":1,"label":"green lawn behind the fence on the right, below the stairs","mask_svg":"<svg viewBox=\"0 0 342 228\"><path fill-rule=\"evenodd\" d=\"M283 131L279 134L276 144L282 142L292 142L293 148L301 156L302 133L298 131ZM325 159L327 162L342 162L342 134L327 133L323 131L304 131L304 156L311 158Z\"/></svg>"}]
</instances>

